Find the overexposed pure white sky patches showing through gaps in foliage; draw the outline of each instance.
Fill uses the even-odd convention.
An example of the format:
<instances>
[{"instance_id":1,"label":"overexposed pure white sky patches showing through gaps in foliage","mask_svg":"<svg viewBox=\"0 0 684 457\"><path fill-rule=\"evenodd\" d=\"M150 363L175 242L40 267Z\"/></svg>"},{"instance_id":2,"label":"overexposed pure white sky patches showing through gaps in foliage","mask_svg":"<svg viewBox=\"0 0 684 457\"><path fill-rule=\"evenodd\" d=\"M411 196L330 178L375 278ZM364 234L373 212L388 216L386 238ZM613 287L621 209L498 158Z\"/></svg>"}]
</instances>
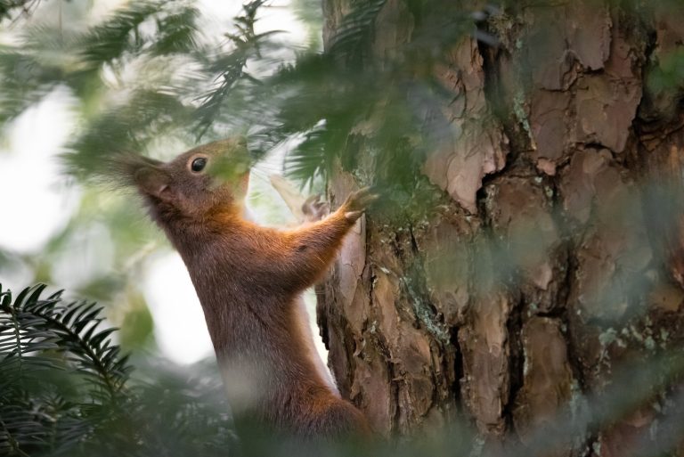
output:
<instances>
[{"instance_id":1,"label":"overexposed pure white sky patches showing through gaps in foliage","mask_svg":"<svg viewBox=\"0 0 684 457\"><path fill-rule=\"evenodd\" d=\"M102 18L123 3L97 0L94 19ZM241 6L237 1L216 0L199 0L198 4L202 12L200 20L205 24L202 29L214 37L230 29L232 17ZM289 11L288 0L273 4L277 7L267 10L259 22L261 31L286 30L289 40L304 43L305 29ZM64 227L77 208L80 191L77 185L69 182L68 176L60 173L61 164L57 158L76 121L69 110L70 105L73 101L66 90L53 91L17 118L8 128L6 142L0 144L0 208L11 219L0 223L0 247L4 249L19 254L38 252L53 233ZM281 159L281 154L275 154L270 159L269 169L279 168ZM264 178L253 178L251 184L256 192L271 196L271 207L276 203L285 208ZM250 209L257 221L268 216L263 208ZM97 255L106 257L107 253L97 251ZM77 261L58 269L60 277L66 276L60 284L62 287L68 287L85 273L79 272L79 267L89 267L87 258L81 258L85 256L79 252ZM30 272L11 271L4 272L0 282L4 280L15 287L23 287L30 279ZM145 264L142 282L162 354L176 363L193 363L211 355L204 315L181 258L175 252L152 256ZM315 317L311 317L315 325ZM317 329L314 335L318 335ZM322 343L317 341L317 345L324 353Z\"/></svg>"}]
</instances>

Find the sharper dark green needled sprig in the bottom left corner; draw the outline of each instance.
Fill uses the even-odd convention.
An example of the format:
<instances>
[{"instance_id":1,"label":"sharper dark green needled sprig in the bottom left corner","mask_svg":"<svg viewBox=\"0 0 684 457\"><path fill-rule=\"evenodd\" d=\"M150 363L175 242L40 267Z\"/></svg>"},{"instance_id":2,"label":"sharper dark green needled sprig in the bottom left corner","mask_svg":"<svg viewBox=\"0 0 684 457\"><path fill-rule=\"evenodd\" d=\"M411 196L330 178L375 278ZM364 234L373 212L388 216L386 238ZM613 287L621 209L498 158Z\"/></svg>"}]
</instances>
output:
<instances>
[{"instance_id":1,"label":"sharper dark green needled sprig in the bottom left corner","mask_svg":"<svg viewBox=\"0 0 684 457\"><path fill-rule=\"evenodd\" d=\"M94 303L40 299L45 286L12 301L0 295L0 450L69 453L118 420L130 366L98 329Z\"/></svg>"}]
</instances>

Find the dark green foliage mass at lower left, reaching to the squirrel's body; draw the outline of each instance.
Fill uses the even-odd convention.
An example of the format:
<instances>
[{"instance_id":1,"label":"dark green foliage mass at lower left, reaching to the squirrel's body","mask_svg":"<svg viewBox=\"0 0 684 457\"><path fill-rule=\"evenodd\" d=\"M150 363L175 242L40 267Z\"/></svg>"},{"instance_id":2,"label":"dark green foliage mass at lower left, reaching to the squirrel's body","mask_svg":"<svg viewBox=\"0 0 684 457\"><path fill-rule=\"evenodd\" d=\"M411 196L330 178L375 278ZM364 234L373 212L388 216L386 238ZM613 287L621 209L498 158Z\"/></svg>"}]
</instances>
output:
<instances>
[{"instance_id":1,"label":"dark green foliage mass at lower left, reaching to the squirrel's body","mask_svg":"<svg viewBox=\"0 0 684 457\"><path fill-rule=\"evenodd\" d=\"M0 454L226 454L227 406L206 368L192 380L162 366L131 379L102 308L44 290L0 293Z\"/></svg>"}]
</instances>

